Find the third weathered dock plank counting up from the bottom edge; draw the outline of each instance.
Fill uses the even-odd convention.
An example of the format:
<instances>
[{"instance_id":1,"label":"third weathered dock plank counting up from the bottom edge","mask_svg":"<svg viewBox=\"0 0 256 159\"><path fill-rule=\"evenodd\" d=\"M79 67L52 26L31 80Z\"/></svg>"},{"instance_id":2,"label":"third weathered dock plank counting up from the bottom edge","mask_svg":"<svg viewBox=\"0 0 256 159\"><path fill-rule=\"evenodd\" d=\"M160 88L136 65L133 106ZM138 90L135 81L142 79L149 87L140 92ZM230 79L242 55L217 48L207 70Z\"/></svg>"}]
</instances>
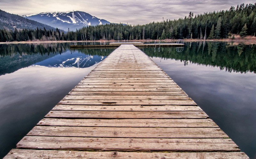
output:
<instances>
[{"instance_id":1,"label":"third weathered dock plank counting up from the bottom edge","mask_svg":"<svg viewBox=\"0 0 256 159\"><path fill-rule=\"evenodd\" d=\"M228 138L218 127L35 126L27 136L116 138Z\"/></svg>"}]
</instances>

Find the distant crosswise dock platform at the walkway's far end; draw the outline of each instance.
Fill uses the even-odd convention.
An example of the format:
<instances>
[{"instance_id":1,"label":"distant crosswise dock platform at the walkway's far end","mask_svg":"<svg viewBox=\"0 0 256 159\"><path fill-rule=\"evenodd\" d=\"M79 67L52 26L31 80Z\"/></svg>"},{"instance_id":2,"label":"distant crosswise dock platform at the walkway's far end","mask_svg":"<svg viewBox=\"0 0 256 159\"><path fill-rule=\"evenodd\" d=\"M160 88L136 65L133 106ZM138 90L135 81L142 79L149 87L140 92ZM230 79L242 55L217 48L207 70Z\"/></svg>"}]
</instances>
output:
<instances>
[{"instance_id":1,"label":"distant crosswise dock platform at the walkway's far end","mask_svg":"<svg viewBox=\"0 0 256 159\"><path fill-rule=\"evenodd\" d=\"M89 48L117 48L120 45L134 45L138 48L145 48L145 47L184 47L184 44L177 44L177 43L169 43L169 44L143 44L142 42L112 42L109 45L70 45L72 49L89 49Z\"/></svg>"}]
</instances>

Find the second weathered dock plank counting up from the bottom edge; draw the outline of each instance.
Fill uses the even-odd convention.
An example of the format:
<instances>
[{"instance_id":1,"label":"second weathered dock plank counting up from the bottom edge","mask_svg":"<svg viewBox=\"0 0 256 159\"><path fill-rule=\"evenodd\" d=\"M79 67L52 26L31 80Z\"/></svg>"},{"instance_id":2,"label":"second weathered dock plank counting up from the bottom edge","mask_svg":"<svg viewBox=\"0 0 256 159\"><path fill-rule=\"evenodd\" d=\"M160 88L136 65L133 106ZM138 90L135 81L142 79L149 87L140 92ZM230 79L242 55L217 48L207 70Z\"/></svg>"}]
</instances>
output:
<instances>
[{"instance_id":1,"label":"second weathered dock plank counting up from the bottom edge","mask_svg":"<svg viewBox=\"0 0 256 159\"><path fill-rule=\"evenodd\" d=\"M17 148L49 150L238 152L230 139L150 139L25 136Z\"/></svg>"}]
</instances>

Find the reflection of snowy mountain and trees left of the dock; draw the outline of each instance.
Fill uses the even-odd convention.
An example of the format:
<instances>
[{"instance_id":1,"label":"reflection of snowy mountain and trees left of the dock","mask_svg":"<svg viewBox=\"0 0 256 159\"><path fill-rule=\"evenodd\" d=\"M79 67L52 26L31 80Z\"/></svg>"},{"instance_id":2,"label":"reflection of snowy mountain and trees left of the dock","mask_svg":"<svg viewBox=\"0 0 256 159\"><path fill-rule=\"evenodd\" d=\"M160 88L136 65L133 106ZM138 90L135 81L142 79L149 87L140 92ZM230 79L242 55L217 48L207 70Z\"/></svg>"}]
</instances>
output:
<instances>
[{"instance_id":1,"label":"reflection of snowy mountain and trees left of the dock","mask_svg":"<svg viewBox=\"0 0 256 159\"><path fill-rule=\"evenodd\" d=\"M30 65L86 68L102 61L113 50L69 51L68 43L0 45L0 76Z\"/></svg>"}]
</instances>

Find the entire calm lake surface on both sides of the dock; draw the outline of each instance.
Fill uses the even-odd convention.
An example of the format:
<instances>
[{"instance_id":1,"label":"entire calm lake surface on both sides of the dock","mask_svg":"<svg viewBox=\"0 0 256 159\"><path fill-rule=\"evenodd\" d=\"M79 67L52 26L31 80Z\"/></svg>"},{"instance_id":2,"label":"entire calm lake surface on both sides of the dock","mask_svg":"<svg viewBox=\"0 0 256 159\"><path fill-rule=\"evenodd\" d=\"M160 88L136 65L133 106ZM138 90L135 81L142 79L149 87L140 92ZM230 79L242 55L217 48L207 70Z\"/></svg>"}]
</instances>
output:
<instances>
[{"instance_id":1,"label":"entire calm lake surface on both sides of the dock","mask_svg":"<svg viewBox=\"0 0 256 159\"><path fill-rule=\"evenodd\" d=\"M0 45L0 158L113 50L70 50L69 43ZM141 50L242 151L256 157L255 45L194 42Z\"/></svg>"}]
</instances>

